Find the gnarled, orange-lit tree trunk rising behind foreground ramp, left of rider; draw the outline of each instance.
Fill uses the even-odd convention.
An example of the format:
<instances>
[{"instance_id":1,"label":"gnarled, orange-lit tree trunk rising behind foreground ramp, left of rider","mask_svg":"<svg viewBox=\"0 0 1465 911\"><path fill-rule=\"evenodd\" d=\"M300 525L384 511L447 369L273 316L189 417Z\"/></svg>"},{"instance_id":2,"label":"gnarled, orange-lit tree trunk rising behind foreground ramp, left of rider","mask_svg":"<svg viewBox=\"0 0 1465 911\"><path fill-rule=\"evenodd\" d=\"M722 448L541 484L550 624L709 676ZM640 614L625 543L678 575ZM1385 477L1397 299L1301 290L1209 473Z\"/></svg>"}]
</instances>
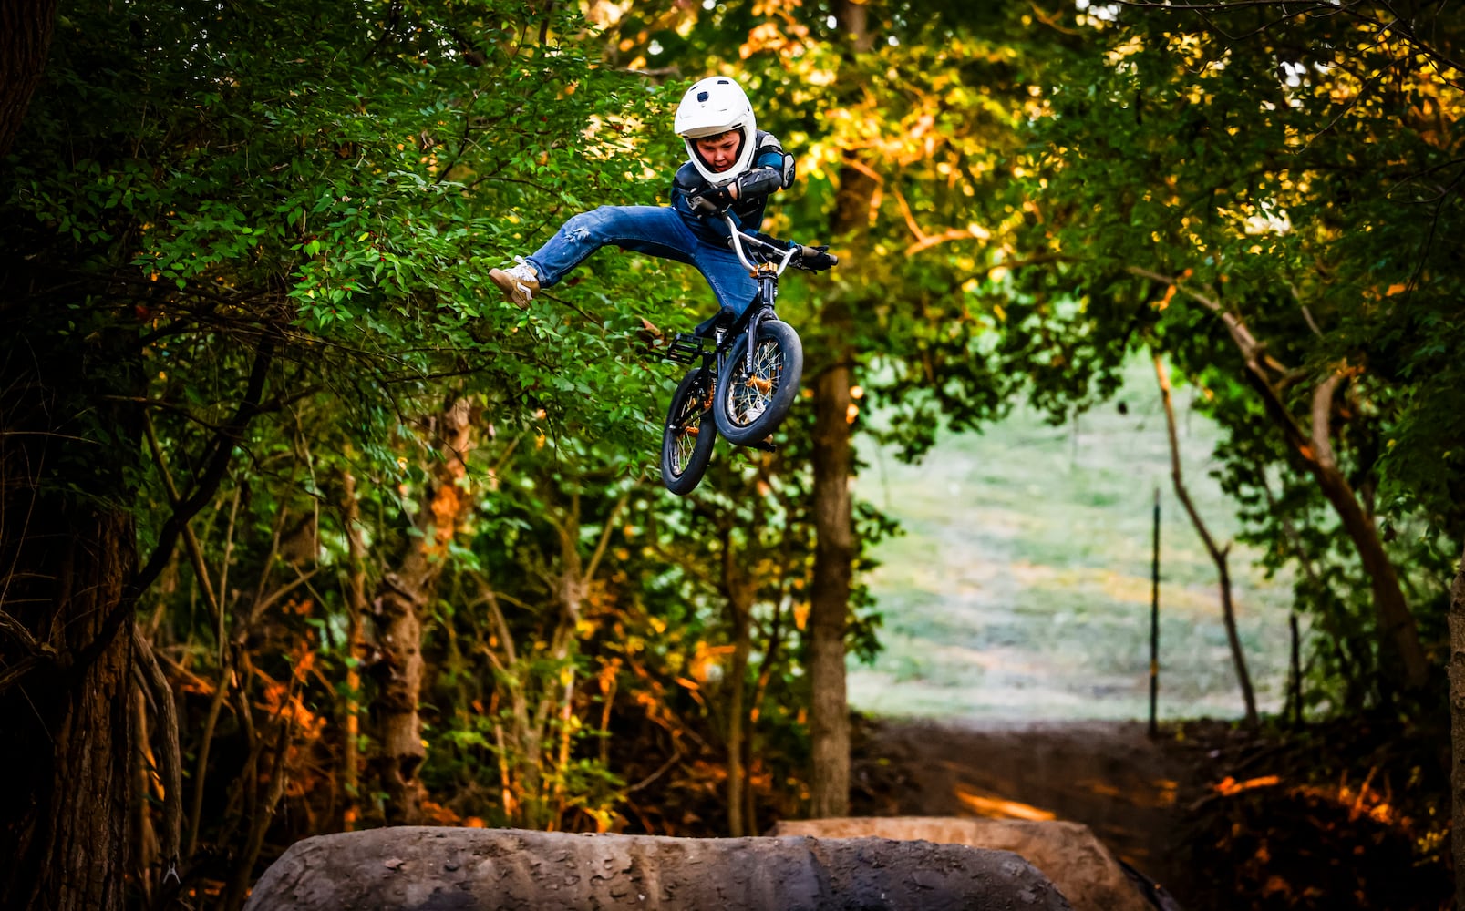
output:
<instances>
[{"instance_id":1,"label":"gnarled, orange-lit tree trunk rising behind foreground ramp, left of rider","mask_svg":"<svg viewBox=\"0 0 1465 911\"><path fill-rule=\"evenodd\" d=\"M418 769L426 759L422 745L422 612L442 570L447 545L467 516L472 499L460 486L467 477L473 412L466 400L450 406L435 420L441 458L431 470L418 513L420 538L410 539L396 573L387 573L374 603L379 680L375 715L379 750L377 770L387 795L387 822L413 825L420 816L422 784Z\"/></svg>"}]
</instances>

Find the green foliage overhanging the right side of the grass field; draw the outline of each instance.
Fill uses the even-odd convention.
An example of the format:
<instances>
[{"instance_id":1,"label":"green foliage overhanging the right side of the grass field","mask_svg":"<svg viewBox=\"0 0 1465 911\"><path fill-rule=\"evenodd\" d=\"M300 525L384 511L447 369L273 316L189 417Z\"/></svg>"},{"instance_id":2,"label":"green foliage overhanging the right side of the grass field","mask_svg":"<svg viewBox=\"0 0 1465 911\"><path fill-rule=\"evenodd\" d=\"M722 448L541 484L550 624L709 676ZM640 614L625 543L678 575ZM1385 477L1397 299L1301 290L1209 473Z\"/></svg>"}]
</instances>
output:
<instances>
[{"instance_id":1,"label":"green foliage overhanging the right side of the grass field","mask_svg":"<svg viewBox=\"0 0 1465 911\"><path fill-rule=\"evenodd\" d=\"M1449 177L1459 73L1367 15L1276 12L1077 16L1106 51L1042 86L1020 167L1043 218L1023 248L1058 261L1021 271L1011 352L1075 382L1110 376L1140 346L1171 354L1228 429L1219 456L1251 540L1299 568L1323 677L1367 687L1368 577L1279 428L1295 422L1336 453L1386 538L1406 532L1392 546L1406 586L1440 592L1450 548L1436 536L1461 530L1458 434L1439 419L1461 385L1436 359L1459 332L1458 262L1439 243L1465 214ZM1452 13L1439 15L1446 28ZM1258 375L1276 378L1291 416L1264 407ZM1329 376L1343 391L1318 406ZM1439 598L1414 606L1440 630Z\"/></svg>"}]
</instances>

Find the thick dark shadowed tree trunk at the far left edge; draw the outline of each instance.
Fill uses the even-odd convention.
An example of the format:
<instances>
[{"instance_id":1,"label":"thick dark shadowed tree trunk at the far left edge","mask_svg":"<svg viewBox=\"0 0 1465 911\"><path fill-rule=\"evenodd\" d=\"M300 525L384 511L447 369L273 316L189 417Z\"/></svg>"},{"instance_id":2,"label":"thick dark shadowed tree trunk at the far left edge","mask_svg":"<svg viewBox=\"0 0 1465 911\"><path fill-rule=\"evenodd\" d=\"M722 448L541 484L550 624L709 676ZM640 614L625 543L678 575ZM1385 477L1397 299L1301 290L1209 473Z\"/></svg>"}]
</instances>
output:
<instances>
[{"instance_id":1,"label":"thick dark shadowed tree trunk at the far left edge","mask_svg":"<svg viewBox=\"0 0 1465 911\"><path fill-rule=\"evenodd\" d=\"M25 281L0 277L0 908L111 911L132 841L132 353L32 319Z\"/></svg>"}]
</instances>

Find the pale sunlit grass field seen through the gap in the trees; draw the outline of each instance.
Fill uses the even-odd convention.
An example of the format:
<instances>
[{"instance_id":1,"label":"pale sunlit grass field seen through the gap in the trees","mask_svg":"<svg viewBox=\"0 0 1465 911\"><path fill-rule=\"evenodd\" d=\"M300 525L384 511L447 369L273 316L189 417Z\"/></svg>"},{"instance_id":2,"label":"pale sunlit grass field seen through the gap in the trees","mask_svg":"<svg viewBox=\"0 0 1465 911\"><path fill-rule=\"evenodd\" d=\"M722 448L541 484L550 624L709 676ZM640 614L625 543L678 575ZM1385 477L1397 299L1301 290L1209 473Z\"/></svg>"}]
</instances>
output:
<instances>
[{"instance_id":1,"label":"pale sunlit grass field seen through the gap in the trees","mask_svg":"<svg viewBox=\"0 0 1465 911\"><path fill-rule=\"evenodd\" d=\"M851 662L850 702L875 715L1065 719L1149 715L1150 561L1160 489L1160 718L1242 713L1214 564L1169 477L1147 362L1115 404L1050 426L1031 410L948 435L916 466L873 447L856 495L900 520L869 583L883 653ZM1217 435L1176 394L1187 486L1226 542L1232 508L1209 476ZM1232 548L1231 574L1258 707L1286 677L1289 586Z\"/></svg>"}]
</instances>

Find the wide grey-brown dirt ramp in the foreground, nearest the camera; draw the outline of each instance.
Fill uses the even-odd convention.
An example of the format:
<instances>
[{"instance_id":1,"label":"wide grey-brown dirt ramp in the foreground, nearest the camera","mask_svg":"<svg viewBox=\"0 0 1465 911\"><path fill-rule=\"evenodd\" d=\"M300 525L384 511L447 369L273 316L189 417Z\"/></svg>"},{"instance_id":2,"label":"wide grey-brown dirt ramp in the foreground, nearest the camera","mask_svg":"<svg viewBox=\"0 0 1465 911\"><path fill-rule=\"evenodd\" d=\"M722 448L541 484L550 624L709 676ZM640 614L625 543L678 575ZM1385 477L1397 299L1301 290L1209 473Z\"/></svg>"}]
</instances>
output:
<instances>
[{"instance_id":1,"label":"wide grey-brown dirt ramp in the foreground, nearest the camera","mask_svg":"<svg viewBox=\"0 0 1465 911\"><path fill-rule=\"evenodd\" d=\"M883 838L659 838L403 826L296 842L245 911L1058 911L1030 863Z\"/></svg>"}]
</instances>

